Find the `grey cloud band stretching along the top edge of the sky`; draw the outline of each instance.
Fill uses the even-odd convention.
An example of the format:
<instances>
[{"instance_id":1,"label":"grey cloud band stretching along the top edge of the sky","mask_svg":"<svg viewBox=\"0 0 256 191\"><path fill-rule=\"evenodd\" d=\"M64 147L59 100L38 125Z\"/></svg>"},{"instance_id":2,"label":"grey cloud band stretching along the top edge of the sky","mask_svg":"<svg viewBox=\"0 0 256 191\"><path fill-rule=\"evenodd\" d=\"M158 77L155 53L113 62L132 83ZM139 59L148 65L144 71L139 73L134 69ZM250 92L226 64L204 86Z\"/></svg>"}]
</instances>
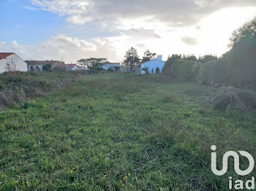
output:
<instances>
[{"instance_id":1,"label":"grey cloud band stretching along the top edge of the sky","mask_svg":"<svg viewBox=\"0 0 256 191\"><path fill-rule=\"evenodd\" d=\"M121 19L151 17L167 26L188 26L219 9L256 6L255 0L31 0L43 10L67 15L73 23L94 20L99 23L116 23ZM75 19L75 18L79 18ZM121 24L121 23L120 23Z\"/></svg>"}]
</instances>

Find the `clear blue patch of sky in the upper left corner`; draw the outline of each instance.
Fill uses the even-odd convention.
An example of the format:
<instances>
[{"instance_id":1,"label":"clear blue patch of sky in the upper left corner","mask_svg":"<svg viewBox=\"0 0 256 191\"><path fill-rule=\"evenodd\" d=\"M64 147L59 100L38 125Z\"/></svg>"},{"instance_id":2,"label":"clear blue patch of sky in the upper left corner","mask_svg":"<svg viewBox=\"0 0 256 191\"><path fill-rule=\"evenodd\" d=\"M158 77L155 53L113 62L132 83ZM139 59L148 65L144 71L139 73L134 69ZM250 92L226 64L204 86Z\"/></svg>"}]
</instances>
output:
<instances>
[{"instance_id":1,"label":"clear blue patch of sky in the upper left corner","mask_svg":"<svg viewBox=\"0 0 256 191\"><path fill-rule=\"evenodd\" d=\"M64 29L65 18L41 9L28 9L26 0L1 1L1 40L17 41L20 44L35 44L57 35Z\"/></svg>"}]
</instances>

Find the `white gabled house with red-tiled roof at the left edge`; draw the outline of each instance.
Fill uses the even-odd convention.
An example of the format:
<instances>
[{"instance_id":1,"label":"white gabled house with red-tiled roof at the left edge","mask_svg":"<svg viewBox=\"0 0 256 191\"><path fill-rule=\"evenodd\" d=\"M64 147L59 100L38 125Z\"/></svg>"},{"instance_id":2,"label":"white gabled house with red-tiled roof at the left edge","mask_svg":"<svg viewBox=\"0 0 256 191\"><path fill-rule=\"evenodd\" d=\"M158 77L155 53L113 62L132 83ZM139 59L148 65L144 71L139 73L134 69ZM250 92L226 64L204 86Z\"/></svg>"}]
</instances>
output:
<instances>
[{"instance_id":1,"label":"white gabled house with red-tiled roof at the left edge","mask_svg":"<svg viewBox=\"0 0 256 191\"><path fill-rule=\"evenodd\" d=\"M12 52L0 52L0 74L5 71L28 71L28 66Z\"/></svg>"}]
</instances>

